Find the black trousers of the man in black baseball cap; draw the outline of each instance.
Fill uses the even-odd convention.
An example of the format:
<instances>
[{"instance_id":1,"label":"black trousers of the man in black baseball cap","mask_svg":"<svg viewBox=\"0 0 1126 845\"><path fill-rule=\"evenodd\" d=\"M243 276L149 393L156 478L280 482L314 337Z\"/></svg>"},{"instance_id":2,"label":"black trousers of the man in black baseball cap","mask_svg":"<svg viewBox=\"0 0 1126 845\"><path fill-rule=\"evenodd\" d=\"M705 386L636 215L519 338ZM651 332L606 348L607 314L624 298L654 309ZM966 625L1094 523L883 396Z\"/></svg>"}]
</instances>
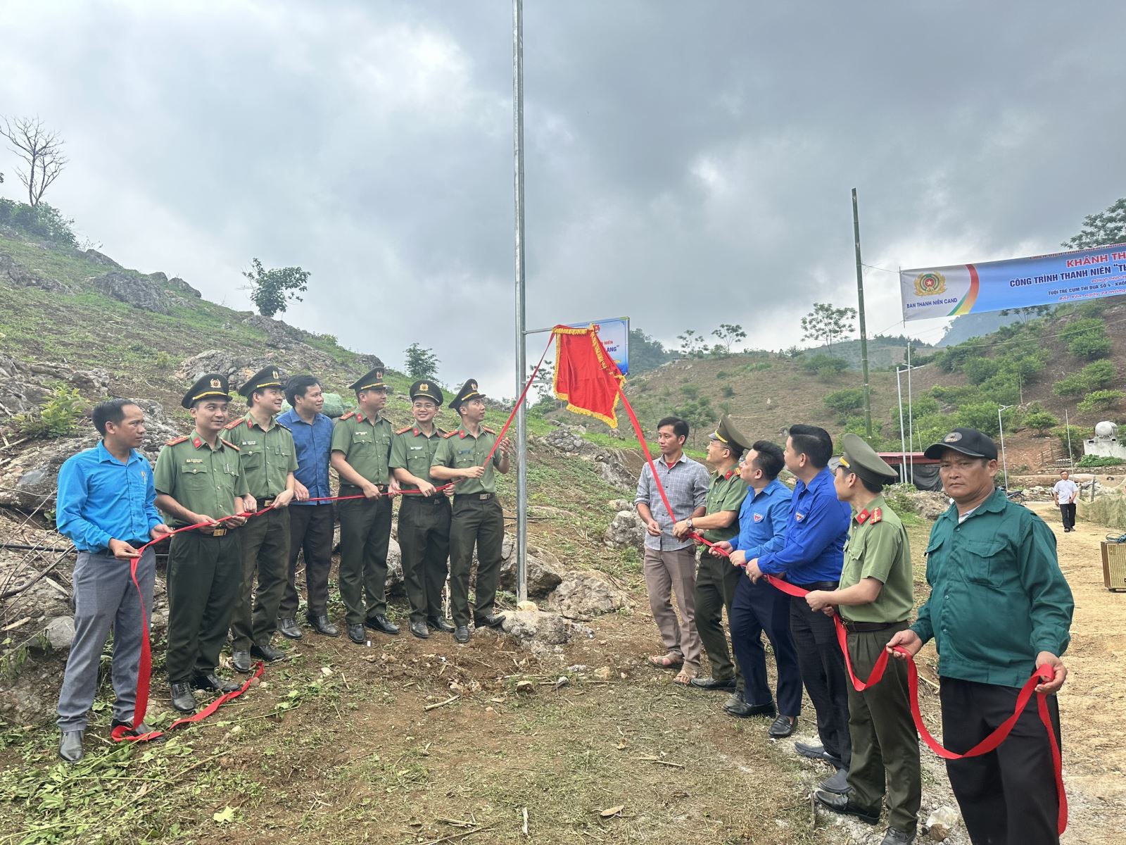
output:
<instances>
[{"instance_id":1,"label":"black trousers of the man in black baseball cap","mask_svg":"<svg viewBox=\"0 0 1126 845\"><path fill-rule=\"evenodd\" d=\"M941 678L942 745L963 753L1012 715L1019 690ZM1047 700L1060 741L1060 705ZM1054 845L1060 800L1052 748L1034 696L997 750L946 762L946 773L974 845Z\"/></svg>"}]
</instances>

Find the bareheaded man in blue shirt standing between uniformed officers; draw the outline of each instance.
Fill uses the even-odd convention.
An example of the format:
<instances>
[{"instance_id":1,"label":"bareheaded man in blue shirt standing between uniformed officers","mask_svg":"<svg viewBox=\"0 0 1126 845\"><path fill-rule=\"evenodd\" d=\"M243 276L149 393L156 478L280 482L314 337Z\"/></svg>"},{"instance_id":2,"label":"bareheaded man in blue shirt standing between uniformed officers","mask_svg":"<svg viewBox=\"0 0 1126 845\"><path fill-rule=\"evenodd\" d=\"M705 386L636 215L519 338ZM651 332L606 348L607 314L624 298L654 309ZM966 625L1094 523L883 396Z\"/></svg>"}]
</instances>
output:
<instances>
[{"instance_id":1,"label":"bareheaded man in blue shirt standing between uniformed officers","mask_svg":"<svg viewBox=\"0 0 1126 845\"><path fill-rule=\"evenodd\" d=\"M325 637L339 637L340 629L329 619L329 570L332 568L331 501L310 501L332 496L329 489L329 457L332 420L321 413L324 392L313 375L295 375L285 385L292 408L278 422L293 434L297 450L296 496L289 506L289 571L278 607L278 630L291 640L301 639L297 626L297 553L305 552L305 619Z\"/></svg>"}]
</instances>

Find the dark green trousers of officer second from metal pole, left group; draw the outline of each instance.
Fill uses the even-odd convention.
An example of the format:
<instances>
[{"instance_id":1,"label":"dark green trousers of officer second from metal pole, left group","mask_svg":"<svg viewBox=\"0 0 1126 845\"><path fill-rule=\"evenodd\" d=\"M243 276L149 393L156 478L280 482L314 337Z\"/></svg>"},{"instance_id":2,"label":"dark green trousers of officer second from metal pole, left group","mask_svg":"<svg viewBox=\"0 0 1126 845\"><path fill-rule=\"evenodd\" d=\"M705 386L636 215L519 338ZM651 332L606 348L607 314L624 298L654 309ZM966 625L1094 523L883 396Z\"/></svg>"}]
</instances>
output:
<instances>
[{"instance_id":1,"label":"dark green trousers of officer second from metal pole, left group","mask_svg":"<svg viewBox=\"0 0 1126 845\"><path fill-rule=\"evenodd\" d=\"M441 619L441 590L449 561L449 499L404 496L399 506L399 548L411 622Z\"/></svg>"}]
</instances>

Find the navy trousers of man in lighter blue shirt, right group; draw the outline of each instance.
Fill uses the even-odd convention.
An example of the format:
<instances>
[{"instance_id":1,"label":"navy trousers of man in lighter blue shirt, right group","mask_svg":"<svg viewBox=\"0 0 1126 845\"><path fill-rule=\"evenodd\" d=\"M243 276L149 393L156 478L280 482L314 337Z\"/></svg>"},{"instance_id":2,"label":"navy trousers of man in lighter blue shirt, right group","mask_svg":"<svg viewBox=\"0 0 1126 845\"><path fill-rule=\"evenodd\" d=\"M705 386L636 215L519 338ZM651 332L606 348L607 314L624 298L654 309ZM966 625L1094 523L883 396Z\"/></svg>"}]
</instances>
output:
<instances>
[{"instance_id":1,"label":"navy trousers of man in lighter blue shirt, right group","mask_svg":"<svg viewBox=\"0 0 1126 845\"><path fill-rule=\"evenodd\" d=\"M741 575L731 603L730 620L731 644L745 681L743 695L747 703L769 704L774 701L767 678L767 652L762 647L765 631L778 666L778 712L799 715L802 673L789 633L789 596L771 587L765 578L754 584Z\"/></svg>"}]
</instances>

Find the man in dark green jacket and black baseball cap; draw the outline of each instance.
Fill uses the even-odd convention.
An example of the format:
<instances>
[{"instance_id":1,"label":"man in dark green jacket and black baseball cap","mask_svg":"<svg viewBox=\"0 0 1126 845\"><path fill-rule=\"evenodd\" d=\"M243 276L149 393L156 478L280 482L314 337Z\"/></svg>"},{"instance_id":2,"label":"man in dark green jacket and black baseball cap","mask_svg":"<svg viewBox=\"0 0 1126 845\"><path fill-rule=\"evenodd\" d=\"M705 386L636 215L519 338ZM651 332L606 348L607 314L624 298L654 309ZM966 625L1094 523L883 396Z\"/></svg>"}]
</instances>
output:
<instances>
[{"instance_id":1,"label":"man in dark green jacket and black baseball cap","mask_svg":"<svg viewBox=\"0 0 1126 845\"><path fill-rule=\"evenodd\" d=\"M1056 560L1055 535L1040 517L993 484L997 446L974 428L955 428L930 446L942 489L954 499L927 543L930 598L915 623L887 648L909 655L935 639L941 677L942 741L964 753L1015 710L1035 669L1060 736L1055 693L1067 670L1060 657L1071 639L1071 589ZM896 657L902 657L897 652ZM946 772L974 842L1055 843L1052 750L1035 703L997 750L947 760Z\"/></svg>"}]
</instances>

